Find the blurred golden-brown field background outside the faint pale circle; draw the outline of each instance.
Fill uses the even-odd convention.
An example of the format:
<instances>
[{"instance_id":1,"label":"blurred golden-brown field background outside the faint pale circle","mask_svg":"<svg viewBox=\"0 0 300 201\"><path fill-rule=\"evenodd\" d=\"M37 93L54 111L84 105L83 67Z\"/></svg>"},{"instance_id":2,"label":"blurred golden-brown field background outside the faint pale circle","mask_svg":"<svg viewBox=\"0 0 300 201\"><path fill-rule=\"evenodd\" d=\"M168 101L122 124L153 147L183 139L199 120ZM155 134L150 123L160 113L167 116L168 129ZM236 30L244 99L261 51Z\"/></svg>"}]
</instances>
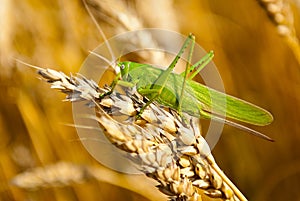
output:
<instances>
[{"instance_id":1,"label":"blurred golden-brown field background outside the faint pale circle","mask_svg":"<svg viewBox=\"0 0 300 201\"><path fill-rule=\"evenodd\" d=\"M107 38L155 27L214 50L226 92L270 111L272 124L251 128L275 139L226 126L217 163L249 200L300 200L299 0L87 1ZM0 3L0 200L165 200L151 179L93 159L65 125L64 95L15 61L78 72L104 41L83 2Z\"/></svg>"}]
</instances>

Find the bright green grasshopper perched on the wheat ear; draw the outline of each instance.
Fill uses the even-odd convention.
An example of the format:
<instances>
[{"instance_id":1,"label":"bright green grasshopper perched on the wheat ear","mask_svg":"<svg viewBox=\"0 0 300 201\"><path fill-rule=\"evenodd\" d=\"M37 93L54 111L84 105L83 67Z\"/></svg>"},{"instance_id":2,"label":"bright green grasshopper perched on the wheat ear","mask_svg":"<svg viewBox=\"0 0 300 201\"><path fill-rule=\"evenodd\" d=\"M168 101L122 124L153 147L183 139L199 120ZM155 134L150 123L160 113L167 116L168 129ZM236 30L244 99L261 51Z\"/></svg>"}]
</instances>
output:
<instances>
[{"instance_id":1,"label":"bright green grasshopper perched on the wheat ear","mask_svg":"<svg viewBox=\"0 0 300 201\"><path fill-rule=\"evenodd\" d=\"M191 47L185 71L181 74L173 73L172 71L178 60L190 43ZM211 51L200 61L190 66L189 63L194 45L195 37L190 34L166 70L131 61L118 62L117 66L120 68L120 72L111 85L112 90L117 83L128 87L136 86L138 93L149 99L141 109L140 114L150 103L156 101L159 104L177 110L179 114L185 112L198 118L225 122L228 125L246 130L263 139L273 141L258 131L225 119L224 115L222 115L226 114L226 117L232 120L264 126L273 121L273 117L268 111L192 80L214 56L214 53ZM195 72L187 77L194 70ZM213 106L211 98L217 102ZM218 100L226 100L226 105L218 104Z\"/></svg>"}]
</instances>

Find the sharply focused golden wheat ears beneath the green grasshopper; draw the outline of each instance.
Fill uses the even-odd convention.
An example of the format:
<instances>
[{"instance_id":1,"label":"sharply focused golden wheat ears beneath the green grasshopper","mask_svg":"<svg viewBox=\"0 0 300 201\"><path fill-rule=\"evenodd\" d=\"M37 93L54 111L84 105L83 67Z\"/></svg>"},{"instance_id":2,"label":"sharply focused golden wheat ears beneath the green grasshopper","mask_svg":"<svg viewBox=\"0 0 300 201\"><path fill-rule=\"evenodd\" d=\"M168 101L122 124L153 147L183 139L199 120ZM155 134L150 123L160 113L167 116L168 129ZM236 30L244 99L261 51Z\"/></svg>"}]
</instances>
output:
<instances>
[{"instance_id":1,"label":"sharply focused golden wheat ears beneath the green grasshopper","mask_svg":"<svg viewBox=\"0 0 300 201\"><path fill-rule=\"evenodd\" d=\"M137 119L136 113L145 103L132 89L125 88L125 93L113 91L100 99L100 94L110 89L101 89L83 76L69 77L42 68L38 72L51 88L66 93L66 100L86 100L95 105L97 116L91 118L97 120L112 144L159 182L158 189L170 200L202 200L205 196L200 192L210 198L247 200L208 152L195 118L185 116L185 121L176 111L150 104ZM118 115L126 116L127 123L113 118Z\"/></svg>"}]
</instances>

